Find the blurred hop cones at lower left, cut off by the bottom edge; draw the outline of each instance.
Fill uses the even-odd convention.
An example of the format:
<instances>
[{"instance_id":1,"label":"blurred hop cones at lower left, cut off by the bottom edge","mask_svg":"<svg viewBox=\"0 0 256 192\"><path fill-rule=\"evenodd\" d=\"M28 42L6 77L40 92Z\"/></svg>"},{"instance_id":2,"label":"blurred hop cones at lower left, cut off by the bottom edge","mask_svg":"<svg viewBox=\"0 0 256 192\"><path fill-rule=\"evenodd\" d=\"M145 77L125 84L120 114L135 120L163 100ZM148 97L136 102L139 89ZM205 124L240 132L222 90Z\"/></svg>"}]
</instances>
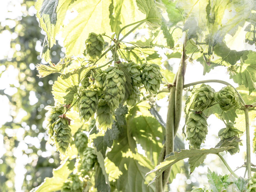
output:
<instances>
[{"instance_id":1,"label":"blurred hop cones at lower left, cut off by the bottom edge","mask_svg":"<svg viewBox=\"0 0 256 192\"><path fill-rule=\"evenodd\" d=\"M82 192L82 189L83 189L83 183L79 179L79 176L72 174L72 175L69 175L68 181L66 181L63 184L61 188L61 192L73 192L73 191Z\"/></svg>"}]
</instances>

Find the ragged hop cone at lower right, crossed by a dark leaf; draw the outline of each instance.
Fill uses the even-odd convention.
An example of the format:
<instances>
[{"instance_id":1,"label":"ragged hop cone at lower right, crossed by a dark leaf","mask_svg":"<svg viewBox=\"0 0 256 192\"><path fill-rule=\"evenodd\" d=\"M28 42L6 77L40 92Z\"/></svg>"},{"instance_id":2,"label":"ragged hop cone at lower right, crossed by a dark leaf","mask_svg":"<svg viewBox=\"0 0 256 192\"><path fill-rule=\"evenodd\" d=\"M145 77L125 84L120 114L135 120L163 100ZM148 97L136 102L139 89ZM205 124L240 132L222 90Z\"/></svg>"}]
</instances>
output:
<instances>
[{"instance_id":1,"label":"ragged hop cone at lower right, crossed by a dark leaf","mask_svg":"<svg viewBox=\"0 0 256 192\"><path fill-rule=\"evenodd\" d=\"M226 128L222 128L221 130L219 130L218 135L219 135L220 139L225 140L225 139L228 139L230 137L235 137L235 136L239 137L239 134L243 133L242 131L235 128L234 124L235 123L229 122L229 123L226 124ZM228 150L228 152L231 155L239 152L239 144L242 145L242 143L234 143L234 144L230 145L230 146L233 146L235 148Z\"/></svg>"}]
</instances>

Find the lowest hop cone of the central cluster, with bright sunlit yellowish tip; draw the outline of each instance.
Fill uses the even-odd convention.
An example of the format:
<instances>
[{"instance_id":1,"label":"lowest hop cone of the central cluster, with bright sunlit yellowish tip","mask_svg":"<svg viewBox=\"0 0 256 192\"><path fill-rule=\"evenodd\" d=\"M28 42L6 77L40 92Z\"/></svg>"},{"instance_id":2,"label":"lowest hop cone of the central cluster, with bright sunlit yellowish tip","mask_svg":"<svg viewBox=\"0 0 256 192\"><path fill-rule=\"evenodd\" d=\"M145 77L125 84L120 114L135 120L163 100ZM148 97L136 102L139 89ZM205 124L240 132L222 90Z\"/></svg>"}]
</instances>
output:
<instances>
[{"instance_id":1,"label":"lowest hop cone of the central cluster, with bright sunlit yellowish tip","mask_svg":"<svg viewBox=\"0 0 256 192\"><path fill-rule=\"evenodd\" d=\"M112 128L112 123L113 111L105 100L100 99L96 110L96 127L98 130L106 131L107 128Z\"/></svg>"}]
</instances>

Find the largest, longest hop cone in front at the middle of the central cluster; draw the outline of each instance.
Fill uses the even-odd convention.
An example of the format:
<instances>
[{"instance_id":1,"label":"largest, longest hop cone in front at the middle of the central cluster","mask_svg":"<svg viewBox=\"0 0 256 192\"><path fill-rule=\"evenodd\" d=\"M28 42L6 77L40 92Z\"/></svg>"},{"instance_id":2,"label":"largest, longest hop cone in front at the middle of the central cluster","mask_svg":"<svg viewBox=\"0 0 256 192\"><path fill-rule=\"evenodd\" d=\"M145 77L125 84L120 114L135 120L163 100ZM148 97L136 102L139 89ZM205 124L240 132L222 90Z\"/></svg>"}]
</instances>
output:
<instances>
[{"instance_id":1,"label":"largest, longest hop cone in front at the middle of the central cluster","mask_svg":"<svg viewBox=\"0 0 256 192\"><path fill-rule=\"evenodd\" d=\"M105 100L109 103L111 111L117 109L125 97L125 77L123 71L115 67L105 70L106 80L103 84Z\"/></svg>"}]
</instances>

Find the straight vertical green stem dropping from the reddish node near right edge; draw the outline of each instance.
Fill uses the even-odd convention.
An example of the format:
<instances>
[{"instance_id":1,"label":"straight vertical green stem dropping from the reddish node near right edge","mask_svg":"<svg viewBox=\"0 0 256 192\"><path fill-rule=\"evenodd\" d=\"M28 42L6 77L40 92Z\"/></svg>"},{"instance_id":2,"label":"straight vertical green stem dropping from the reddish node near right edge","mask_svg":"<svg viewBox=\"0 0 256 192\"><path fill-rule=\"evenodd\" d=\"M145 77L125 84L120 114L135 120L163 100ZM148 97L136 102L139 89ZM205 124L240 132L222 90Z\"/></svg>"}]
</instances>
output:
<instances>
[{"instance_id":1,"label":"straight vertical green stem dropping from the reddish node near right edge","mask_svg":"<svg viewBox=\"0 0 256 192\"><path fill-rule=\"evenodd\" d=\"M250 124L248 109L244 109L245 130L246 130L246 167L248 179L251 177L251 149L250 149Z\"/></svg>"}]
</instances>

